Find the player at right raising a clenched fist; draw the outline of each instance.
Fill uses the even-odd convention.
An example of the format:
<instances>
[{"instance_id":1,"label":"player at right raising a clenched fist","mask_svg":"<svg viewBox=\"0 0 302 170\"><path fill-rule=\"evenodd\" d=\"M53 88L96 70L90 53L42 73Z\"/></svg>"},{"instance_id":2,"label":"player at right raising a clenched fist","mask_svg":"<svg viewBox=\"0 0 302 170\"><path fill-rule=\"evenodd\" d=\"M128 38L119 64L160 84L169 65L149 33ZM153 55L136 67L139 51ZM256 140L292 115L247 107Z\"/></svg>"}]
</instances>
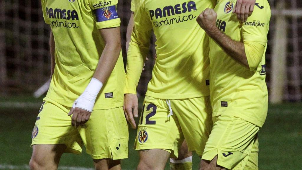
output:
<instances>
[{"instance_id":1,"label":"player at right raising a clenched fist","mask_svg":"<svg viewBox=\"0 0 302 170\"><path fill-rule=\"evenodd\" d=\"M241 24L231 12L235 2L220 0L197 19L210 37L214 123L201 170L258 170L257 133L268 108L265 50L271 10L267 0L257 0Z\"/></svg>"}]
</instances>

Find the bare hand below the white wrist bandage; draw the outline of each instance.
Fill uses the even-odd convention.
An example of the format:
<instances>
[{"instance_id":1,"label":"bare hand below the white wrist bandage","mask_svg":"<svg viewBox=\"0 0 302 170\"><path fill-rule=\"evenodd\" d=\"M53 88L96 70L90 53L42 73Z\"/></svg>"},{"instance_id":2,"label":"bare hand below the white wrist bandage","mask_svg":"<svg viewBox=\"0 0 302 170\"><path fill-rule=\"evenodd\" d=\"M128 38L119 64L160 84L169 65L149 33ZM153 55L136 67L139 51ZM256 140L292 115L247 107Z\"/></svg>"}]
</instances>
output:
<instances>
[{"instance_id":1,"label":"bare hand below the white wrist bandage","mask_svg":"<svg viewBox=\"0 0 302 170\"><path fill-rule=\"evenodd\" d=\"M72 115L71 125L72 126L82 126L84 125L90 118L91 112L81 109L79 107L71 108L68 116Z\"/></svg>"}]
</instances>

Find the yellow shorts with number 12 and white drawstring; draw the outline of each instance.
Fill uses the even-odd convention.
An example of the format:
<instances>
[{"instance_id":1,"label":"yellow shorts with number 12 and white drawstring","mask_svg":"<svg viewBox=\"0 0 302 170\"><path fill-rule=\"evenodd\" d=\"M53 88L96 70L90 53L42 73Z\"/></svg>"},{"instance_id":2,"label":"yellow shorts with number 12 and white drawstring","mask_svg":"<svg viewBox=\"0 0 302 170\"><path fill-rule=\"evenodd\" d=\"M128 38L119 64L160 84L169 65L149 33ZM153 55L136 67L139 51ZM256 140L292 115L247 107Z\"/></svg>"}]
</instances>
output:
<instances>
[{"instance_id":1,"label":"yellow shorts with number 12 and white drawstring","mask_svg":"<svg viewBox=\"0 0 302 170\"><path fill-rule=\"evenodd\" d=\"M170 152L172 158L177 158L185 138L189 151L201 156L212 126L210 96L181 100L146 96L135 148L163 149Z\"/></svg>"}]
</instances>

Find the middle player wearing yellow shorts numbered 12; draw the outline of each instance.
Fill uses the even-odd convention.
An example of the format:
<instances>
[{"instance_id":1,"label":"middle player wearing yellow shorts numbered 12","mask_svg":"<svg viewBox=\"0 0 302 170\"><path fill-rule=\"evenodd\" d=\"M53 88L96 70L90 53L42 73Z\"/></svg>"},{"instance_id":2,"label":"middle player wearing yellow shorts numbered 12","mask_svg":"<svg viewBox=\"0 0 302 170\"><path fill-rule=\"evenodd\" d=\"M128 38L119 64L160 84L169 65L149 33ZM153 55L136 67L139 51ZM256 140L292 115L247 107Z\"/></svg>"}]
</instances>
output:
<instances>
[{"instance_id":1,"label":"middle player wearing yellow shorts numbered 12","mask_svg":"<svg viewBox=\"0 0 302 170\"><path fill-rule=\"evenodd\" d=\"M195 20L215 3L135 0L124 97L125 115L133 128L133 116L138 116L136 87L152 29L157 39L157 58L138 125L138 169L164 169L169 157L178 157L184 138L189 151L202 156L212 127L209 42Z\"/></svg>"}]
</instances>

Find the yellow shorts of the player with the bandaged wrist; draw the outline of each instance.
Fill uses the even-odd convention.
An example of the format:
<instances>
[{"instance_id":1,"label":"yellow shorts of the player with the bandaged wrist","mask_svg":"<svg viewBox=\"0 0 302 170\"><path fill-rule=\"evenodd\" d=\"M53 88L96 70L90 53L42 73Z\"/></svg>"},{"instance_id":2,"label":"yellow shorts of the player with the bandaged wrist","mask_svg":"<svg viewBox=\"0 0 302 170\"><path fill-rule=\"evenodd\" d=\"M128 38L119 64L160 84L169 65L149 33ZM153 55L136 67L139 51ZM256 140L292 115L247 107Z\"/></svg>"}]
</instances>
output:
<instances>
[{"instance_id":1,"label":"yellow shorts of the player with the bandaged wrist","mask_svg":"<svg viewBox=\"0 0 302 170\"><path fill-rule=\"evenodd\" d=\"M84 126L72 127L70 108L47 99L40 108L32 143L65 144L65 152L80 154L84 144L93 159L128 158L128 125L122 107L93 110Z\"/></svg>"}]
</instances>

